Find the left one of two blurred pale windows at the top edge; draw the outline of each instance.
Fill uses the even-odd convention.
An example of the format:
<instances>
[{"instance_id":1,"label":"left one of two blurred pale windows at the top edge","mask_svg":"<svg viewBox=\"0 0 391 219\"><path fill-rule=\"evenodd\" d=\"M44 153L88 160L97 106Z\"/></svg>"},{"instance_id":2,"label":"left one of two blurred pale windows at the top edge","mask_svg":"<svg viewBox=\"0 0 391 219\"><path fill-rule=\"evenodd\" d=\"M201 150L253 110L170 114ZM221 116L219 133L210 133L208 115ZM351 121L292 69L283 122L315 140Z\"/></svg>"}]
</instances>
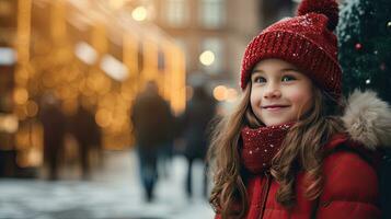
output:
<instances>
[{"instance_id":1,"label":"left one of two blurred pale windows at the top edge","mask_svg":"<svg viewBox=\"0 0 391 219\"><path fill-rule=\"evenodd\" d=\"M188 19L187 0L166 0L165 19L170 26L184 26Z\"/></svg>"}]
</instances>

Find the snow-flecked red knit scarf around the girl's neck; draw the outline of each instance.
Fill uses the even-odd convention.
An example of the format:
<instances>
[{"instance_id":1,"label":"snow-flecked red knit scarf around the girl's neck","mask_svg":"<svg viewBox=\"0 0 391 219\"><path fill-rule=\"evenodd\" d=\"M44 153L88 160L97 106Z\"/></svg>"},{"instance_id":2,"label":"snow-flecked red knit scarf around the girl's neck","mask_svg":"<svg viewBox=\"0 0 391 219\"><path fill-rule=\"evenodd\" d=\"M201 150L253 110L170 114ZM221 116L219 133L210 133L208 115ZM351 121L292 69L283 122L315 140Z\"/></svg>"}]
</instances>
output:
<instances>
[{"instance_id":1,"label":"snow-flecked red knit scarf around the girl's neck","mask_svg":"<svg viewBox=\"0 0 391 219\"><path fill-rule=\"evenodd\" d=\"M279 151L292 123L252 129L244 127L241 132L241 159L252 174L261 174L272 165L272 159Z\"/></svg>"}]
</instances>

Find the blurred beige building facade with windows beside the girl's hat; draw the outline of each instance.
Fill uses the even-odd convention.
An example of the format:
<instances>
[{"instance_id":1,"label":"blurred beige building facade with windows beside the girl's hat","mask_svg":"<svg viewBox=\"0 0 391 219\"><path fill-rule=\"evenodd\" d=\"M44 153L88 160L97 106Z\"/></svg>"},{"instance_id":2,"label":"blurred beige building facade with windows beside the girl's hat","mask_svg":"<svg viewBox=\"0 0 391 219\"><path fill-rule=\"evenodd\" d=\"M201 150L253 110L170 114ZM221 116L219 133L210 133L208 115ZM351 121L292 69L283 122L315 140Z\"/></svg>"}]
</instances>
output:
<instances>
[{"instance_id":1,"label":"blurred beige building facade with windows beside the girl's hat","mask_svg":"<svg viewBox=\"0 0 391 219\"><path fill-rule=\"evenodd\" d=\"M151 0L156 23L186 54L186 72L237 89L244 48L263 27L292 15L292 0ZM211 53L209 53L211 51ZM208 62L209 61L209 62ZM206 64L205 64L206 62Z\"/></svg>"}]
</instances>

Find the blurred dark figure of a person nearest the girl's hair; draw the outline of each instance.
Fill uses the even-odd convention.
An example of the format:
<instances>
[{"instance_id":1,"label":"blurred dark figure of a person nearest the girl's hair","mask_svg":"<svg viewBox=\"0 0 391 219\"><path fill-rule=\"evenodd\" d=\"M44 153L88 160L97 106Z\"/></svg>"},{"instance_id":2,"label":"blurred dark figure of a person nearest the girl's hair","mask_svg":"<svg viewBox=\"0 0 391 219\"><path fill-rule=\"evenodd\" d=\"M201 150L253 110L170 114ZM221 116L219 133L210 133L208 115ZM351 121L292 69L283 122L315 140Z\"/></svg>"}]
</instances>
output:
<instances>
[{"instance_id":1,"label":"blurred dark figure of a person nearest the girl's hair","mask_svg":"<svg viewBox=\"0 0 391 219\"><path fill-rule=\"evenodd\" d=\"M193 97L187 102L186 110L182 117L184 143L184 155L188 162L186 176L186 193L191 198L192 191L192 169L195 160L202 160L205 163L206 152L209 145L209 125L216 114L216 101L208 95L203 85L194 88ZM204 172L204 196L207 196L207 166Z\"/></svg>"}]
</instances>

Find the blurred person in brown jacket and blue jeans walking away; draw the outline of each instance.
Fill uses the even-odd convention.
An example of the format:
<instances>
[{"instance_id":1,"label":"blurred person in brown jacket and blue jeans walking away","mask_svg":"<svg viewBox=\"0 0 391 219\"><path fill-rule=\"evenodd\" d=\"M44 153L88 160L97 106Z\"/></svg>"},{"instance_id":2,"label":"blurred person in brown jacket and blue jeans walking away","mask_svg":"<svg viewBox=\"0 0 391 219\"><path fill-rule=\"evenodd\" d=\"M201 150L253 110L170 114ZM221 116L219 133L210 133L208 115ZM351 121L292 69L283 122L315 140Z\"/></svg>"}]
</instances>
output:
<instances>
[{"instance_id":1,"label":"blurred person in brown jacket and blue jeans walking away","mask_svg":"<svg viewBox=\"0 0 391 219\"><path fill-rule=\"evenodd\" d=\"M154 82L148 82L146 89L136 96L131 122L146 199L151 201L158 180L159 151L171 141L173 132L173 115L168 102L159 95Z\"/></svg>"}]
</instances>

